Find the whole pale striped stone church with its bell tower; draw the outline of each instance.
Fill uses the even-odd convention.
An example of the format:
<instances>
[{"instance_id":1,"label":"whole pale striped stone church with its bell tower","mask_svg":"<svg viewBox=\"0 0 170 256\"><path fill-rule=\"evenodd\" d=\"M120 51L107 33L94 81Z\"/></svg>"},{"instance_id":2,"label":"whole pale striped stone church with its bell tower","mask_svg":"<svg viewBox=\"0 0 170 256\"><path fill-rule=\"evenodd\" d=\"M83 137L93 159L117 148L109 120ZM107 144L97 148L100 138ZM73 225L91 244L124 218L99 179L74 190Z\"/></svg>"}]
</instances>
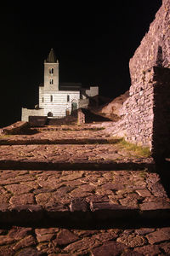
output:
<instances>
[{"instance_id":1,"label":"whole pale striped stone church with its bell tower","mask_svg":"<svg viewBox=\"0 0 170 256\"><path fill-rule=\"evenodd\" d=\"M59 83L59 61L51 49L44 61L44 83L39 86L39 104L22 108L21 120L30 116L63 118L78 108L88 108L90 98L99 95L98 86L82 88L81 83Z\"/></svg>"}]
</instances>

